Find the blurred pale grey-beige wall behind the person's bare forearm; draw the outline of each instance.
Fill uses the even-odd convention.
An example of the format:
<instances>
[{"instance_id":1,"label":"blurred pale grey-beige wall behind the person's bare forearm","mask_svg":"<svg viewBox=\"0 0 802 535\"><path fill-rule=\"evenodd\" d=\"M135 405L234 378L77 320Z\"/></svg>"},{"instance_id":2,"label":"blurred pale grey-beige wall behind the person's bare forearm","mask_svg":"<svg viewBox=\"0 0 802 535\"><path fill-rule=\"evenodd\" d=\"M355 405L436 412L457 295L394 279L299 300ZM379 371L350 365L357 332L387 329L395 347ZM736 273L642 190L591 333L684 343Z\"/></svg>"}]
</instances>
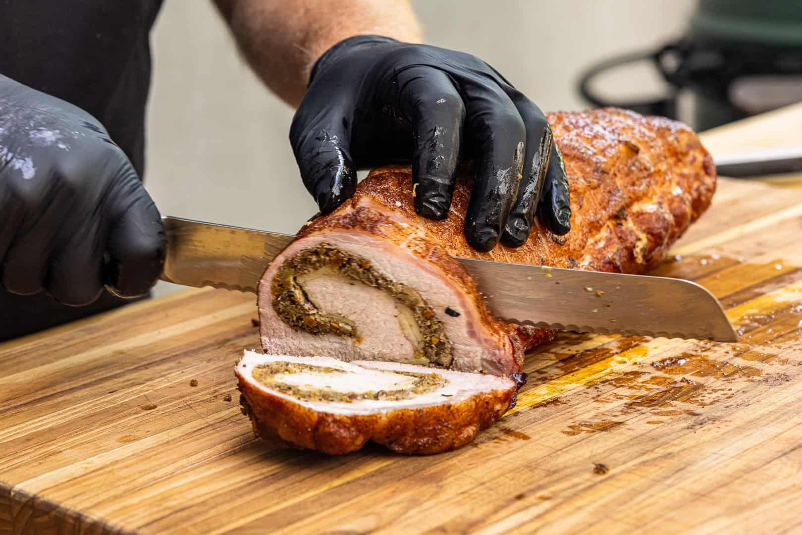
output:
<instances>
[{"instance_id":1,"label":"blurred pale grey-beige wall behind the person's bare forearm","mask_svg":"<svg viewBox=\"0 0 802 535\"><path fill-rule=\"evenodd\" d=\"M291 0L288 0L291 1ZM471 52L544 111L585 107L581 69L683 33L694 0L412 0L427 43ZM335 9L336 2L332 2ZM165 215L294 233L315 212L287 132L293 111L237 55L211 2L168 0L152 38L146 186ZM657 75L606 80L620 98ZM173 290L160 283L157 293Z\"/></svg>"}]
</instances>

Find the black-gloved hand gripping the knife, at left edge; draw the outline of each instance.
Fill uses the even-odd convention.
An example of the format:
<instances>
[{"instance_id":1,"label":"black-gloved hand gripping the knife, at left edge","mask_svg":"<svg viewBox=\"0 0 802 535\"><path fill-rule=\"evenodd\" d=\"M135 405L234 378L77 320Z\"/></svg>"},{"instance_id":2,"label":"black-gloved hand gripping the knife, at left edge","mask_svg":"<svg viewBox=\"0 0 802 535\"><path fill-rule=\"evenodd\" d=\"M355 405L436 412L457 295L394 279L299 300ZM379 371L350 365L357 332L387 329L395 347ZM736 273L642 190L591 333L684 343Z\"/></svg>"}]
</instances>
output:
<instances>
[{"instance_id":1,"label":"black-gloved hand gripping the knife, at left edge","mask_svg":"<svg viewBox=\"0 0 802 535\"><path fill-rule=\"evenodd\" d=\"M0 76L0 282L85 305L144 294L164 226L124 152L78 107Z\"/></svg>"}]
</instances>

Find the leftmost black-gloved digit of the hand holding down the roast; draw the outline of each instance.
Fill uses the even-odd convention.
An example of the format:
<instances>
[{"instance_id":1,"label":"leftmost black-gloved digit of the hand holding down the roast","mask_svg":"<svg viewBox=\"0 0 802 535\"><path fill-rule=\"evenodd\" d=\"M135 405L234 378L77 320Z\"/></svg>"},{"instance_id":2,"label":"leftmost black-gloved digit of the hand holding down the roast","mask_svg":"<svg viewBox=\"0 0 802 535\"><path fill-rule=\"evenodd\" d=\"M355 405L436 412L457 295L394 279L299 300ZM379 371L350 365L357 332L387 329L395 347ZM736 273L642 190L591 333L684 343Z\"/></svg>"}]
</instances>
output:
<instances>
[{"instance_id":1,"label":"leftmost black-gloved digit of the hand holding down the roast","mask_svg":"<svg viewBox=\"0 0 802 535\"><path fill-rule=\"evenodd\" d=\"M353 98L353 95L344 95ZM326 101L302 103L290 128L290 142L306 190L321 213L330 213L354 194L356 168L350 156L348 106Z\"/></svg>"}]
</instances>

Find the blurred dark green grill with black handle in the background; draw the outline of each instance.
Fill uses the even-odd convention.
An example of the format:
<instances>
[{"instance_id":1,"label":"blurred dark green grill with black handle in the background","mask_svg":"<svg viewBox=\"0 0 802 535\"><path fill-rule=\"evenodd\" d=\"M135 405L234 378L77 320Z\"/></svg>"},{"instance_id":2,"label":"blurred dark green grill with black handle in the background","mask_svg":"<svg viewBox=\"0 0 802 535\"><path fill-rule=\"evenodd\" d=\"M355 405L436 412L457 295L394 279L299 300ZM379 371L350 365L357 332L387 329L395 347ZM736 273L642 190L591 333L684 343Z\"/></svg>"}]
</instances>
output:
<instances>
[{"instance_id":1,"label":"blurred dark green grill with black handle in the background","mask_svg":"<svg viewBox=\"0 0 802 535\"><path fill-rule=\"evenodd\" d=\"M622 101L594 90L597 75L639 61L658 69L668 83L666 95ZM800 102L802 0L699 0L681 39L589 67L578 88L593 106L672 119L678 115L679 91L688 91L698 131Z\"/></svg>"}]
</instances>

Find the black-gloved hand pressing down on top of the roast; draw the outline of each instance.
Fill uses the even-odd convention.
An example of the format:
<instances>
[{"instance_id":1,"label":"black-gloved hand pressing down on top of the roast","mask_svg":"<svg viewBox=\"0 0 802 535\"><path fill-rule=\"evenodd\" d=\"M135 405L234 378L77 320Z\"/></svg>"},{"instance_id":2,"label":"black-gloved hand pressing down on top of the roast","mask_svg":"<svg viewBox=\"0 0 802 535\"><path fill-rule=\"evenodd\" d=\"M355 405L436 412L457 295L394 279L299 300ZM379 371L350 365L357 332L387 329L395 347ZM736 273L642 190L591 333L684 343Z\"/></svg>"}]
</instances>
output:
<instances>
[{"instance_id":1,"label":"black-gloved hand pressing down on top of the roast","mask_svg":"<svg viewBox=\"0 0 802 535\"><path fill-rule=\"evenodd\" d=\"M553 233L570 229L568 181L543 112L472 55L346 39L315 64L290 141L322 213L354 193L357 168L411 160L415 210L444 219L461 151L476 169L465 220L475 249L522 245L538 208Z\"/></svg>"}]
</instances>

